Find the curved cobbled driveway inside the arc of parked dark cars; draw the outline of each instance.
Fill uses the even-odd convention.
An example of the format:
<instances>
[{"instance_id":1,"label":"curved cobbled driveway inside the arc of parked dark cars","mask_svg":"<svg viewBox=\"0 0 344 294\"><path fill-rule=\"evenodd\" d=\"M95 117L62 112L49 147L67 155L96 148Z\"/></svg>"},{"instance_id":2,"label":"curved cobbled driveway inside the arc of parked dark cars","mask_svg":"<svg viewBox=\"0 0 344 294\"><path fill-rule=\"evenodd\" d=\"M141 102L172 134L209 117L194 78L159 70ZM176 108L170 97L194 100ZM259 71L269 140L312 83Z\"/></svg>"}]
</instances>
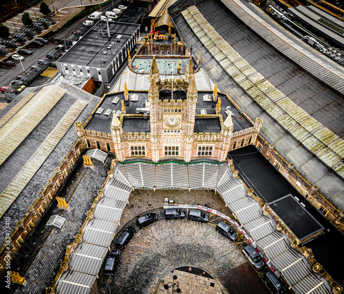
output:
<instances>
[{"instance_id":1,"label":"curved cobbled driveway inside the arc of parked dark cars","mask_svg":"<svg viewBox=\"0 0 344 294\"><path fill-rule=\"evenodd\" d=\"M153 293L166 273L183 266L204 269L218 278L246 259L212 223L164 220L160 212L159 221L137 230L120 261L114 276L100 271L100 293Z\"/></svg>"}]
</instances>

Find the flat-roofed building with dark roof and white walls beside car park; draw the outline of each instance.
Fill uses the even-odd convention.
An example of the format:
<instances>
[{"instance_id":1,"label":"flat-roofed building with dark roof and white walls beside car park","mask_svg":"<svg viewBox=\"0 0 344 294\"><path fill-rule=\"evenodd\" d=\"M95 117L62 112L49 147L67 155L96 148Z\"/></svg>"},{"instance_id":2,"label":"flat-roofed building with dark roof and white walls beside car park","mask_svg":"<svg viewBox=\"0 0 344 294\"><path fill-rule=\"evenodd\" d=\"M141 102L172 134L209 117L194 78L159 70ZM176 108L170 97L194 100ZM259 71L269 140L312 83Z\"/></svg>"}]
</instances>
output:
<instances>
[{"instance_id":1,"label":"flat-roofed building with dark roof and white walls beside car park","mask_svg":"<svg viewBox=\"0 0 344 294\"><path fill-rule=\"evenodd\" d=\"M62 74L92 77L109 82L136 44L140 25L99 21L59 60Z\"/></svg>"}]
</instances>

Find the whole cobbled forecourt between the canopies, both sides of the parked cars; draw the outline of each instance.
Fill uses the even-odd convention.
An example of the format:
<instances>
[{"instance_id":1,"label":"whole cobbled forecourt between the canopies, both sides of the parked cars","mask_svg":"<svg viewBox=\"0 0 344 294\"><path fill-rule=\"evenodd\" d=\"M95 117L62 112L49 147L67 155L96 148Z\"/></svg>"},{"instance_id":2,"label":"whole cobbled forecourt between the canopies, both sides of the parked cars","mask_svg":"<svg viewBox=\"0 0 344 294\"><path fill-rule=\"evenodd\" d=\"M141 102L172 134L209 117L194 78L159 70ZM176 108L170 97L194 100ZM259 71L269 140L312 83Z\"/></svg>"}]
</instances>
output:
<instances>
[{"instance_id":1,"label":"whole cobbled forecourt between the canopies, both sides of the parked cars","mask_svg":"<svg viewBox=\"0 0 344 294\"><path fill-rule=\"evenodd\" d=\"M246 241L239 238L237 242L231 242L215 231L220 218L212 215L209 223L197 223L186 218L164 220L162 209L164 197L169 197L169 200L175 203L206 205L232 216L221 197L213 191L133 191L129 204L122 214L111 249L115 249L116 239L125 227L129 225L135 227L136 235L129 245L120 251L120 265L114 275L104 275L104 267L100 270L99 293L153 293L161 288L159 287L161 279L171 275L169 273L178 267L197 267L212 275L218 282L226 273L248 263L241 253ZM138 229L136 218L147 211L157 213L158 221L144 229ZM250 264L246 267L246 271L261 283L263 289L266 289ZM180 289L184 290L182 293L192 291L185 292L191 283L182 281L183 279L178 281ZM169 291L171 292L171 289ZM166 290L166 293L169 291Z\"/></svg>"}]
</instances>

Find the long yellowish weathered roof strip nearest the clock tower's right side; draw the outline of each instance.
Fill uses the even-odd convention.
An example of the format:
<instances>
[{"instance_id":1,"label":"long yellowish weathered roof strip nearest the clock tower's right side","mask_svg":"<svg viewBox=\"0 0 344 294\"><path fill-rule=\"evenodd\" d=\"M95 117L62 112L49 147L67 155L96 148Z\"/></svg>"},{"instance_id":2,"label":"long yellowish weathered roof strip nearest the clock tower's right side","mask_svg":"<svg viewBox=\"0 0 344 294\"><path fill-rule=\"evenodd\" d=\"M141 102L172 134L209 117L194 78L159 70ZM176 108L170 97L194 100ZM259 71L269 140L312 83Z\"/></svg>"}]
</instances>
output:
<instances>
[{"instance_id":1,"label":"long yellowish weathered roof strip nearest the clock tower's right side","mask_svg":"<svg viewBox=\"0 0 344 294\"><path fill-rule=\"evenodd\" d=\"M184 10L182 15L207 49L212 50L217 47L220 52L223 52L215 54L214 58L232 76L235 82L246 90L267 113L286 128L303 146L341 177L344 177L344 168L341 164L344 154L344 141L314 120L301 107L286 98L281 91L257 73L244 58L235 52L233 47L219 36L195 6ZM195 30L196 27L197 30ZM248 70L249 68L250 70ZM250 74L246 76L244 73ZM337 74L340 76L339 73ZM334 148L333 142L336 142L336 148Z\"/></svg>"}]
</instances>

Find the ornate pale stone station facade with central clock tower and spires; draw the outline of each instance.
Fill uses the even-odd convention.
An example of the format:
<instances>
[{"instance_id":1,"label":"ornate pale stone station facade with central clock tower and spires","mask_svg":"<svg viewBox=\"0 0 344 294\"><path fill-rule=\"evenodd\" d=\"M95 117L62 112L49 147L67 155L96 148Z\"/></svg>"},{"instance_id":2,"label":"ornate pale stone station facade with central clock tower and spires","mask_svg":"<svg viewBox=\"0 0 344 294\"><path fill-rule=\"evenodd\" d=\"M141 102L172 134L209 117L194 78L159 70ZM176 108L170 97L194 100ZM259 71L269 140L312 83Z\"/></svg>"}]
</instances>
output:
<instances>
[{"instance_id":1,"label":"ornate pale stone station facade with central clock tower and spires","mask_svg":"<svg viewBox=\"0 0 344 294\"><path fill-rule=\"evenodd\" d=\"M252 122L252 127L233 131L231 115L224 121L221 112L221 99L217 100L217 87L213 92L213 100L217 100L216 114L197 115L197 118L217 117L221 124L219 133L195 133L195 115L197 105L197 89L193 64L190 58L186 69L186 82L178 86L187 89L186 99L162 100L159 90L164 87L160 81L155 58L151 66L151 85L148 92L150 133L124 133L122 129L125 117L142 115L126 114L122 109L120 119L114 115L111 122L111 133L86 130L81 123L76 124L78 137L85 148L99 148L105 152L113 152L119 161L133 157L144 157L159 161L175 158L188 162L197 158L210 158L224 161L227 152L250 144L255 144L263 121L259 118ZM224 95L224 94L223 94ZM227 96L228 99L230 99ZM248 118L249 119L249 118Z\"/></svg>"}]
</instances>

